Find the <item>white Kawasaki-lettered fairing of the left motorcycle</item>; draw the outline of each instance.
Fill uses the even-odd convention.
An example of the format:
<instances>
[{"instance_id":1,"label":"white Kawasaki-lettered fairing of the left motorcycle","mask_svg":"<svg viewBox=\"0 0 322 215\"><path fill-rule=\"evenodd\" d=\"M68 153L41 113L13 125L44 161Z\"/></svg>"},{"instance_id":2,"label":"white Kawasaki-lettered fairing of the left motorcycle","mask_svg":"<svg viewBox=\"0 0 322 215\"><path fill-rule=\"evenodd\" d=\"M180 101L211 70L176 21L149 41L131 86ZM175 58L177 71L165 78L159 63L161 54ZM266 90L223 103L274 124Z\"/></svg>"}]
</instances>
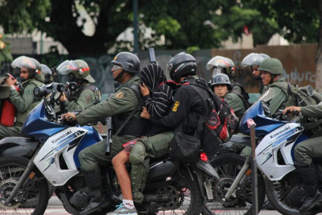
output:
<instances>
[{"instance_id":1,"label":"white Kawasaki-lettered fairing of the left motorcycle","mask_svg":"<svg viewBox=\"0 0 322 215\"><path fill-rule=\"evenodd\" d=\"M86 129L79 127L66 128L49 137L39 150L34 163L53 186L62 186L78 173L73 154L87 133ZM61 162L66 164L64 169Z\"/></svg>"}]
</instances>

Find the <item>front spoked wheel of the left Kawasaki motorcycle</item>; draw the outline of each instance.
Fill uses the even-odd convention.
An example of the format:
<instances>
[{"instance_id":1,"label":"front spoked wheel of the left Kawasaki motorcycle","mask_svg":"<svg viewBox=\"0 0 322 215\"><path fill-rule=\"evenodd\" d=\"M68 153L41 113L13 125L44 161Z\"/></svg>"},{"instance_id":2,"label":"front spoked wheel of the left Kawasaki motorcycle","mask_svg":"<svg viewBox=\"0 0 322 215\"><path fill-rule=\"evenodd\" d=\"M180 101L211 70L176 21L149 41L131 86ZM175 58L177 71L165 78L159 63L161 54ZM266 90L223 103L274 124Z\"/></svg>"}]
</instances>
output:
<instances>
[{"instance_id":1,"label":"front spoked wheel of the left Kawasaki motorcycle","mask_svg":"<svg viewBox=\"0 0 322 215\"><path fill-rule=\"evenodd\" d=\"M28 162L28 159L22 157L0 158L0 214L40 215L45 212L48 204L48 185L46 179L38 172L18 191L11 203L6 201L26 170ZM37 201L34 208L19 208L34 201Z\"/></svg>"}]
</instances>

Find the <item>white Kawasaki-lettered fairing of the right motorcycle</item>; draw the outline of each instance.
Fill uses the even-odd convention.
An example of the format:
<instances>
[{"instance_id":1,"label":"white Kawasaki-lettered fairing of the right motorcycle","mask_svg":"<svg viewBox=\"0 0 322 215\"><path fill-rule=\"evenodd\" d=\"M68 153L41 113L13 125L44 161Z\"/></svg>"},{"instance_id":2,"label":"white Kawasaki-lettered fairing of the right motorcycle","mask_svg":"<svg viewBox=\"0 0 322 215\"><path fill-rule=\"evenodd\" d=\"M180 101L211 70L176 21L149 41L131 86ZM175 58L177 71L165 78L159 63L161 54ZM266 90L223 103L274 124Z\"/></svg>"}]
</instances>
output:
<instances>
[{"instance_id":1,"label":"white Kawasaki-lettered fairing of the right motorcycle","mask_svg":"<svg viewBox=\"0 0 322 215\"><path fill-rule=\"evenodd\" d=\"M280 180L295 169L291 152L300 134L298 123L286 123L267 134L258 144L255 151L257 163L270 180ZM283 164L278 162L278 152L282 155Z\"/></svg>"}]
</instances>

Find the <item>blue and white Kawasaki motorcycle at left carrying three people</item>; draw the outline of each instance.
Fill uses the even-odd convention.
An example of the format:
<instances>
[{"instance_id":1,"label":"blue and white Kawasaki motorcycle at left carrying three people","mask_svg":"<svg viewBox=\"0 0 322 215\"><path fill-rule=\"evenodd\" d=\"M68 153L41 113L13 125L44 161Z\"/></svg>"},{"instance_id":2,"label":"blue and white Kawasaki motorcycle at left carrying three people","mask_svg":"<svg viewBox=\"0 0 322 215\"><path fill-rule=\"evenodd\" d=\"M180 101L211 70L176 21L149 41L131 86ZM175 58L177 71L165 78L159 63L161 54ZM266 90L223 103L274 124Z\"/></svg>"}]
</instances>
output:
<instances>
[{"instance_id":1,"label":"blue and white Kawasaki motorcycle at left carrying three people","mask_svg":"<svg viewBox=\"0 0 322 215\"><path fill-rule=\"evenodd\" d=\"M55 116L53 101L61 95L61 88L61 84L52 83L34 91L34 95L43 94L44 100L28 115L22 130L35 142L29 149L33 156L0 158L0 213L19 213L17 208L34 197L33 193L37 205L26 208L26 214L43 214L48 204L48 184L56 187L57 197L71 214L81 214L90 202L84 174L79 171L78 153L102 137L90 125L70 124ZM218 176L209 162L199 159L191 165L163 158L153 160L149 168L144 200L135 205L139 214L170 210L197 215L204 197L212 198L210 179ZM101 166L101 171L108 200L104 208L92 214L114 211L120 203L121 190L112 165Z\"/></svg>"}]
</instances>

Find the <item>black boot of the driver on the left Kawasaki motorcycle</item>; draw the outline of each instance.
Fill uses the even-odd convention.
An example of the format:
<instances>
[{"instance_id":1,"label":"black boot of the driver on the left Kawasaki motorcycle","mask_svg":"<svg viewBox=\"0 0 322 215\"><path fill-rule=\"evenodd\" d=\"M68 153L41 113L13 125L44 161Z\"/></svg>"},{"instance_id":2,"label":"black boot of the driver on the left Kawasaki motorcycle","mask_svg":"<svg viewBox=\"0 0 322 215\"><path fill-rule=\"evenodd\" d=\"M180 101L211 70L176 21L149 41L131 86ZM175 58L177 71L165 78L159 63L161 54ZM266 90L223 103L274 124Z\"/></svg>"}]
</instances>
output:
<instances>
[{"instance_id":1,"label":"black boot of the driver on the left Kawasaki motorcycle","mask_svg":"<svg viewBox=\"0 0 322 215\"><path fill-rule=\"evenodd\" d=\"M106 207L109 204L106 196L103 193L103 183L100 171L83 170L85 180L90 188L91 200L87 207L82 210L81 215L86 215L96 211L101 207Z\"/></svg>"}]
</instances>

